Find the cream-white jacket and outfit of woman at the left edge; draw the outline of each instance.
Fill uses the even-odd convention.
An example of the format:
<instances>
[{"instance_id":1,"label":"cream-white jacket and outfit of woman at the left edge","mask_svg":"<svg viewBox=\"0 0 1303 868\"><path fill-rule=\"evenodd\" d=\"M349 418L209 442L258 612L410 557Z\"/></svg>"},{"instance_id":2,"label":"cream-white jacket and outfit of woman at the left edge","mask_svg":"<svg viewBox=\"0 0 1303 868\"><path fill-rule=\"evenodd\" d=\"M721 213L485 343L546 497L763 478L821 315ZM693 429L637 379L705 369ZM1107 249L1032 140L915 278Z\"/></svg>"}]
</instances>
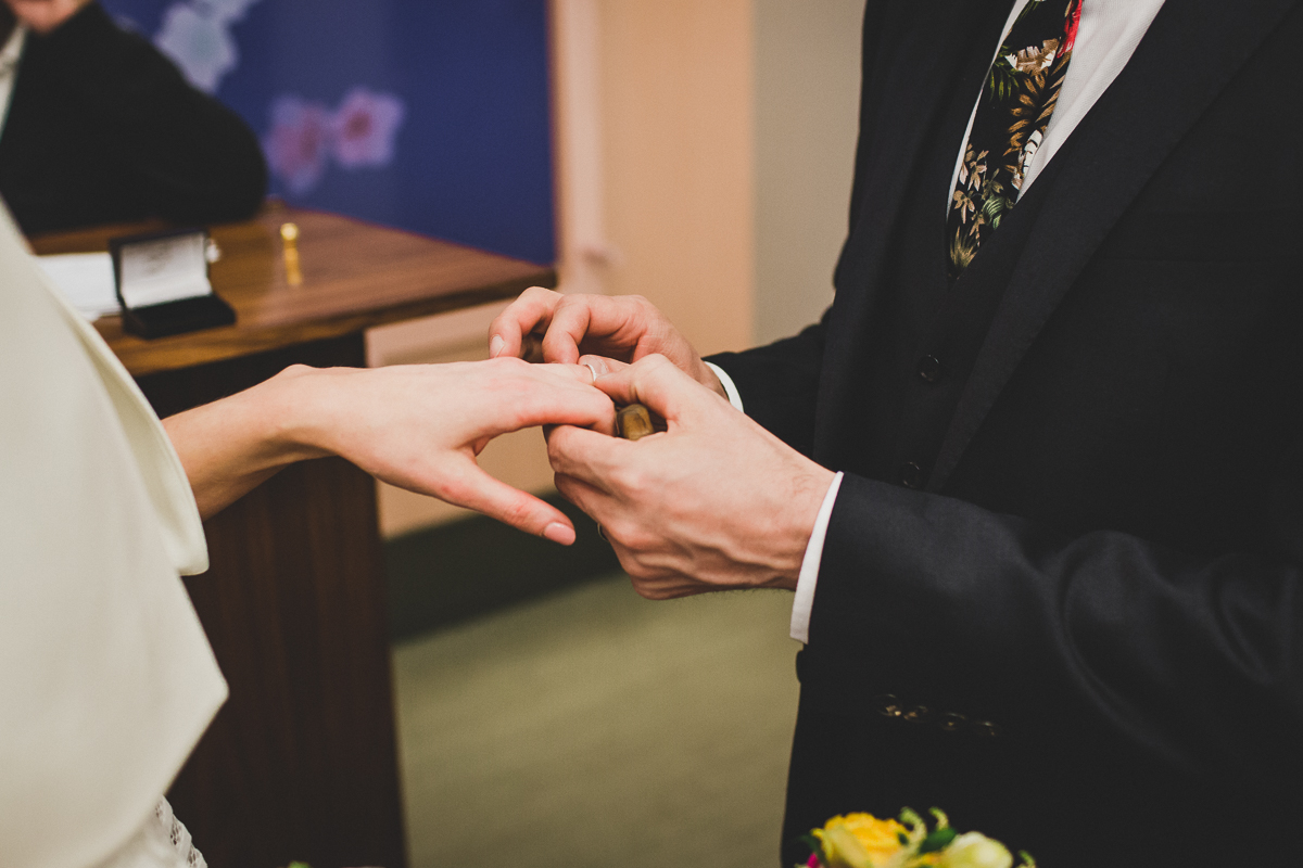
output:
<instances>
[{"instance_id":1,"label":"cream-white jacket and outfit of woman at the left edge","mask_svg":"<svg viewBox=\"0 0 1303 868\"><path fill-rule=\"evenodd\" d=\"M162 800L227 696L185 470L0 206L0 867L202 868Z\"/></svg>"}]
</instances>

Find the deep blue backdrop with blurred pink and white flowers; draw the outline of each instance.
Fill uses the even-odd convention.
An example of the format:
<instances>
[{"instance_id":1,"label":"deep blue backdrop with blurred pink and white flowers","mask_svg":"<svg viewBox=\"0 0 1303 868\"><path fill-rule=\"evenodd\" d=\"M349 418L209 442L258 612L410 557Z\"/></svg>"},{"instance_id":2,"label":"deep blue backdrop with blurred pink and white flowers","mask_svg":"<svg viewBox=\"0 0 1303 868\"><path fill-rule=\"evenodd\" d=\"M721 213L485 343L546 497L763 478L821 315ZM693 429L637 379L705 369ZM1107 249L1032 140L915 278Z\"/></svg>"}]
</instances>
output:
<instances>
[{"instance_id":1,"label":"deep blue backdrop with blurred pink and white flowers","mask_svg":"<svg viewBox=\"0 0 1303 868\"><path fill-rule=\"evenodd\" d=\"M271 190L555 258L545 0L103 0L258 133Z\"/></svg>"}]
</instances>

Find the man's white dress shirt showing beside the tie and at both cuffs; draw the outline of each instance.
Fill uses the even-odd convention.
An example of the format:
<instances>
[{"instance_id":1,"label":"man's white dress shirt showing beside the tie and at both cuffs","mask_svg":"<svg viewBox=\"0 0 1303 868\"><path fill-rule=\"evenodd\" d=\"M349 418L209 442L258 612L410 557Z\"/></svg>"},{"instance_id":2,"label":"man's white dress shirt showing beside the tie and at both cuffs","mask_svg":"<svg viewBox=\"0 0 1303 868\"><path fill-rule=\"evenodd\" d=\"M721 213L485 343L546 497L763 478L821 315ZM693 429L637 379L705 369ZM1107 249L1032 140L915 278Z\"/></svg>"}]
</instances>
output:
<instances>
[{"instance_id":1,"label":"man's white dress shirt showing beside the tie and at both cuffs","mask_svg":"<svg viewBox=\"0 0 1303 868\"><path fill-rule=\"evenodd\" d=\"M1003 35L1009 34L1018 14L1027 5L1028 0L1018 0L1009 20L1005 22ZM1063 81L1063 90L1059 91L1058 105L1045 129L1045 138L1036 151L1022 193L1036 181L1041 168L1044 168L1067 141L1076 125L1091 111L1096 100L1109 88L1113 79L1118 77L1122 68L1131 60L1136 46L1149 30L1154 16L1162 8L1164 0L1083 0L1081 21L1076 33L1076 44L1072 48L1072 61L1067 68L1067 78ZM1003 42L1003 35L1001 42ZM999 46L992 49L992 60ZM968 129L964 138L958 143L959 154L955 157L955 174L950 183L950 193L954 193L955 182L959 177L959 165L963 161L964 146L968 143L968 134L972 130L973 118L977 116L977 104L973 103L973 113L968 118ZM951 198L947 195L943 206L949 210ZM718 366L710 368L719 377L728 398L735 407L743 409L741 396L732 379ZM810 609L814 605L814 590L818 584L820 560L823 556L823 539L827 535L827 523L833 515L833 506L837 502L837 492L842 484L842 474L833 478L818 517L810 532L809 543L805 547L805 557L801 561L800 576L796 582L796 597L792 603L791 636L797 642L809 642Z\"/></svg>"}]
</instances>

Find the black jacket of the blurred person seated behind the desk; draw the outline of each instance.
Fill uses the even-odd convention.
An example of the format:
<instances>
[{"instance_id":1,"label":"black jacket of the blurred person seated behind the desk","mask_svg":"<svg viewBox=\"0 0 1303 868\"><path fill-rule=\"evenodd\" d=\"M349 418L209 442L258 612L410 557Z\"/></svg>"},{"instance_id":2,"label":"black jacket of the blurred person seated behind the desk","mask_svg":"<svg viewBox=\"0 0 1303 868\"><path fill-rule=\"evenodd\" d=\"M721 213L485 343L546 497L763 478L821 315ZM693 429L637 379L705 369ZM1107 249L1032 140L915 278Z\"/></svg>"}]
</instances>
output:
<instances>
[{"instance_id":1,"label":"black jacket of the blurred person seated behind the desk","mask_svg":"<svg viewBox=\"0 0 1303 868\"><path fill-rule=\"evenodd\" d=\"M240 220L266 189L245 122L99 4L27 34L0 135L0 195L25 233Z\"/></svg>"}]
</instances>

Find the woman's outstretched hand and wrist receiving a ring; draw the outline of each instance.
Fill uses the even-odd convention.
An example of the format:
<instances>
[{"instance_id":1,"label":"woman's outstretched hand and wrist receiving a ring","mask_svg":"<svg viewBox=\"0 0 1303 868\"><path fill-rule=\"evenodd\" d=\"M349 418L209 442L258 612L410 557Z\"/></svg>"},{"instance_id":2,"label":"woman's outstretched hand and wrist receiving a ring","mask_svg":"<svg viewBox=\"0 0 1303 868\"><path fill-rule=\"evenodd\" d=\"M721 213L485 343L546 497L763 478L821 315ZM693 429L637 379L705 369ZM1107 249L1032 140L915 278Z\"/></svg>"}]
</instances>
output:
<instances>
[{"instance_id":1,"label":"woman's outstretched hand and wrist receiving a ring","mask_svg":"<svg viewBox=\"0 0 1303 868\"><path fill-rule=\"evenodd\" d=\"M280 467L341 455L377 479L568 545L569 521L483 472L498 435L541 424L611 431L614 406L584 366L502 358L384 368L287 368L164 424L211 515Z\"/></svg>"}]
</instances>

